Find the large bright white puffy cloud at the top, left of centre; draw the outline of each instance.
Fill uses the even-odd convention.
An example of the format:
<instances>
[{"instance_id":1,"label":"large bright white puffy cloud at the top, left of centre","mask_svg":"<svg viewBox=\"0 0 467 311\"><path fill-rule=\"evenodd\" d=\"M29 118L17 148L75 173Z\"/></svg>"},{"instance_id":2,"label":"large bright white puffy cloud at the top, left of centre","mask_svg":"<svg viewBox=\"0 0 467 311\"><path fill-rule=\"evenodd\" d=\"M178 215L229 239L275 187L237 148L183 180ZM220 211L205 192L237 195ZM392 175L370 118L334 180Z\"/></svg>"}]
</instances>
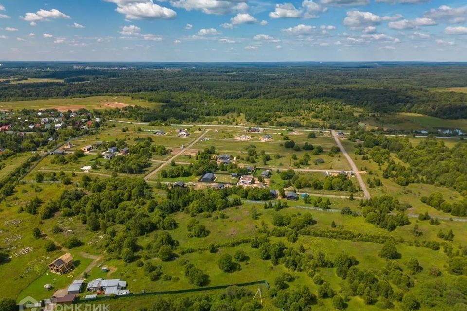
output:
<instances>
[{"instance_id":1,"label":"large bright white puffy cloud at the top, left of centre","mask_svg":"<svg viewBox=\"0 0 467 311\"><path fill-rule=\"evenodd\" d=\"M169 8L155 4L153 0L144 3L117 4L117 12L124 14L126 19L172 19L177 13Z\"/></svg>"}]
</instances>

